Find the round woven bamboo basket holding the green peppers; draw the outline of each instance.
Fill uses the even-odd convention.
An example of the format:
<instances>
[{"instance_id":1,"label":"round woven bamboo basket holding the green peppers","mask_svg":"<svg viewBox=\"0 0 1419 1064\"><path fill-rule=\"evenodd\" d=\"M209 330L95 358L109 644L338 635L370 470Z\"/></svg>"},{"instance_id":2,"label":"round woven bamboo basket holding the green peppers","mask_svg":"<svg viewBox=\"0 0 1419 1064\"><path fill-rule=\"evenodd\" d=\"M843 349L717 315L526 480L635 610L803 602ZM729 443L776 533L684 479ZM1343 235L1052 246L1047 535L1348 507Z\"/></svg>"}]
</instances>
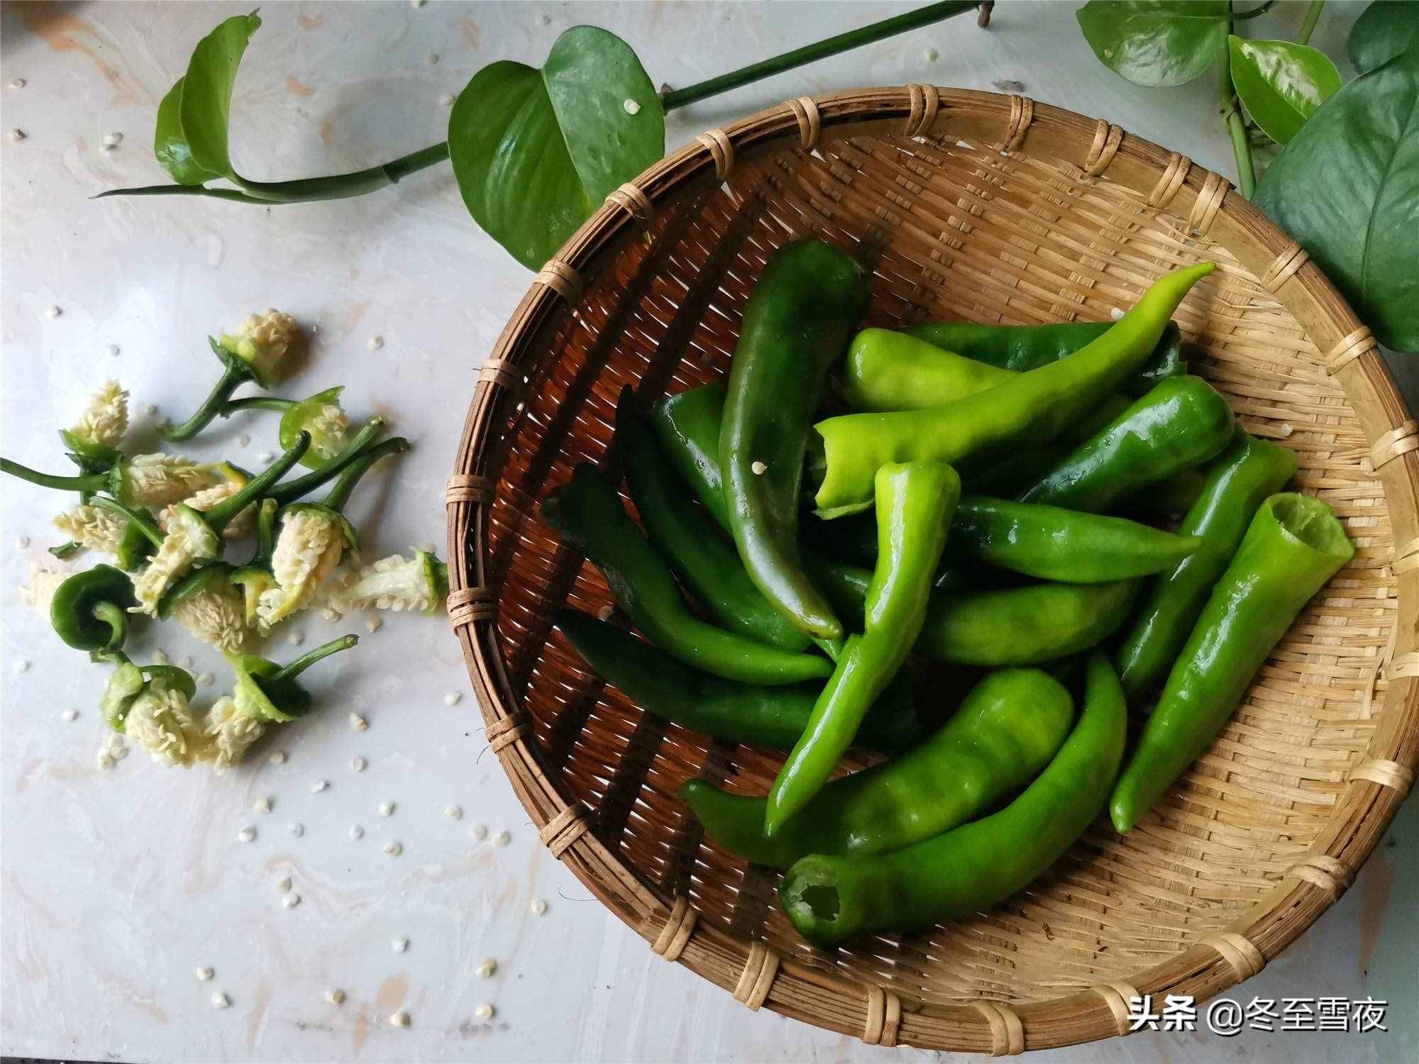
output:
<instances>
[{"instance_id":1,"label":"round woven bamboo basket holding the green peppers","mask_svg":"<svg viewBox=\"0 0 1419 1064\"><path fill-rule=\"evenodd\" d=\"M817 234L874 264L870 323L1107 319L1162 272L1218 271L1176 314L1192 370L1300 457L1358 550L1232 724L1124 838L1105 820L1023 894L931 933L807 946L775 877L675 799L765 793L778 759L602 685L551 628L599 573L539 516L616 467L620 386L728 370L769 253ZM487 739L542 841L667 960L751 1009L866 1043L1015 1054L1128 1030L1134 994L1256 975L1349 885L1419 759L1419 423L1314 262L1216 173L1022 96L931 85L800 98L622 186L534 279L482 363L447 491L448 611Z\"/></svg>"}]
</instances>

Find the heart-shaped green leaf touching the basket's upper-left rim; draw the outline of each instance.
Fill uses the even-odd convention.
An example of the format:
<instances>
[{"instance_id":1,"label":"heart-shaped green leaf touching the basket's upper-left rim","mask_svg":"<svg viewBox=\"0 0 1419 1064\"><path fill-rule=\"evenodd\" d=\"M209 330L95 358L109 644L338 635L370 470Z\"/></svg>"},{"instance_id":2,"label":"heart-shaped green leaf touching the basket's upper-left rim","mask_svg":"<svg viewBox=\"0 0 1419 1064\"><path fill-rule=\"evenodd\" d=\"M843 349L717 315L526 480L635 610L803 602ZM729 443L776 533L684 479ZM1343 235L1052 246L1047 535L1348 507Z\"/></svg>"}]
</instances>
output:
<instances>
[{"instance_id":1,"label":"heart-shaped green leaf touching the basket's upper-left rim","mask_svg":"<svg viewBox=\"0 0 1419 1064\"><path fill-rule=\"evenodd\" d=\"M538 70L499 61L458 94L448 159L463 201L529 270L666 153L666 112L630 45L575 26Z\"/></svg>"}]
</instances>

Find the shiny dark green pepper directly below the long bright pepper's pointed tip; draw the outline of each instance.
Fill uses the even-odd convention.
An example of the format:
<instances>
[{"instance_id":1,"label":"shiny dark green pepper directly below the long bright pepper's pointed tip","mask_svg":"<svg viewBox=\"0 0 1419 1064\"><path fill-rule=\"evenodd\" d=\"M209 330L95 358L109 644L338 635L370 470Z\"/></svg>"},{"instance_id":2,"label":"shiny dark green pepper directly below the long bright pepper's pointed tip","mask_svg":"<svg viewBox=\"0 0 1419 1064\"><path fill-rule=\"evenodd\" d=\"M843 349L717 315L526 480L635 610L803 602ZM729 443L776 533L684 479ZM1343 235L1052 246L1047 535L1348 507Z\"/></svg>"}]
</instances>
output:
<instances>
[{"instance_id":1,"label":"shiny dark green pepper directly below the long bright pepper's pointed tip","mask_svg":"<svg viewBox=\"0 0 1419 1064\"><path fill-rule=\"evenodd\" d=\"M1130 492L1218 455L1236 424L1227 400L1202 377L1169 377L1020 492L1098 514Z\"/></svg>"}]
</instances>

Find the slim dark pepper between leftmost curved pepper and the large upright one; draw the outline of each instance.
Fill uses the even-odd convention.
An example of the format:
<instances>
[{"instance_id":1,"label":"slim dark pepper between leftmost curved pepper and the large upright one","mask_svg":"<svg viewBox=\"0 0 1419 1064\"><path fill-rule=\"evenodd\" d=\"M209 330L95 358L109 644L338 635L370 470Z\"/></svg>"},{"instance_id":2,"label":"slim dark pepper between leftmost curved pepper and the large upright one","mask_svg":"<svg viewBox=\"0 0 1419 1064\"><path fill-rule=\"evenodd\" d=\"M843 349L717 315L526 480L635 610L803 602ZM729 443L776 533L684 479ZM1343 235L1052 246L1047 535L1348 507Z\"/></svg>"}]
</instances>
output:
<instances>
[{"instance_id":1,"label":"slim dark pepper between leftmost curved pepper and the large upright one","mask_svg":"<svg viewBox=\"0 0 1419 1064\"><path fill-rule=\"evenodd\" d=\"M807 650L807 636L753 586L734 543L695 506L690 488L661 454L630 386L616 404L616 441L646 536L695 602L729 631L785 650Z\"/></svg>"}]
</instances>

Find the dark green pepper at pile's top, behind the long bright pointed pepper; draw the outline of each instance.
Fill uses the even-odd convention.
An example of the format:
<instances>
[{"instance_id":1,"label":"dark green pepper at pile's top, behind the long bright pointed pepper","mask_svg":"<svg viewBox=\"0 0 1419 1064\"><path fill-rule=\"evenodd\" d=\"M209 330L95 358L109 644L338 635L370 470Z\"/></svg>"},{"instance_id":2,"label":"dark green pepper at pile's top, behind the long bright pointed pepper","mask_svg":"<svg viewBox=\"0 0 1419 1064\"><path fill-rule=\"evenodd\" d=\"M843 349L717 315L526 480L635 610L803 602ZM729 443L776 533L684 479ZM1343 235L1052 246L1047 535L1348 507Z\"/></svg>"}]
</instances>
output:
<instances>
[{"instance_id":1,"label":"dark green pepper at pile's top, behind the long bright pointed pepper","mask_svg":"<svg viewBox=\"0 0 1419 1064\"><path fill-rule=\"evenodd\" d=\"M905 329L910 336L937 348L985 362L999 369L1026 373L1073 355L1093 343L1112 322L1060 322L1057 325L975 325L972 322L929 322ZM1142 367L1124 382L1124 389L1141 396L1159 380L1186 373L1182 360L1182 331L1168 322Z\"/></svg>"}]
</instances>

